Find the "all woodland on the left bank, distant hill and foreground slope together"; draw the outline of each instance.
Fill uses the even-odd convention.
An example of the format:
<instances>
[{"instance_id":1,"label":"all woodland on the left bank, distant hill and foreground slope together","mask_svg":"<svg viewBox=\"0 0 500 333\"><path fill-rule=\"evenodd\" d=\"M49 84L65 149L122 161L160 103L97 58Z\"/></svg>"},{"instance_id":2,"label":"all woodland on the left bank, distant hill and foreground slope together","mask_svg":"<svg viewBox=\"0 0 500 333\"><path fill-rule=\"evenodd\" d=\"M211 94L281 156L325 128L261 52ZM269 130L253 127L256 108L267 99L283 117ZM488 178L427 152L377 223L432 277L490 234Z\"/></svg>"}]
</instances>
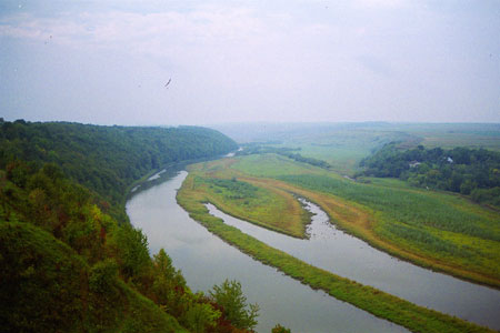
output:
<instances>
[{"instance_id":1,"label":"all woodland on the left bank, distant hill and foreground slope together","mask_svg":"<svg viewBox=\"0 0 500 333\"><path fill-rule=\"evenodd\" d=\"M248 332L258 306L237 281L193 293L160 250L102 209L170 161L228 152L201 128L1 127L2 332ZM152 147L149 147L152 144ZM277 326L278 327L278 326Z\"/></svg>"}]
</instances>

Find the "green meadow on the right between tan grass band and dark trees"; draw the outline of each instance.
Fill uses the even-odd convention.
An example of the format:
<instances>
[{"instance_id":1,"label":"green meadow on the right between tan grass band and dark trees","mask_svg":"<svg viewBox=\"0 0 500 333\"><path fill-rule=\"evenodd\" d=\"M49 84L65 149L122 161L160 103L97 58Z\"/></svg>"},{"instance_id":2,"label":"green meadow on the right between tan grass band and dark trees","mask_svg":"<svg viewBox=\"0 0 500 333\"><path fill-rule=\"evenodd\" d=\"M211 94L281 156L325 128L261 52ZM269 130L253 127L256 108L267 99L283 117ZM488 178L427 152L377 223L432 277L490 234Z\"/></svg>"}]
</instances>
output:
<instances>
[{"instance_id":1,"label":"green meadow on the right between tan grass band and dark trees","mask_svg":"<svg viewBox=\"0 0 500 333\"><path fill-rule=\"evenodd\" d=\"M384 243L392 244L397 246L391 246L392 254L418 264L493 286L500 284L500 233L494 212L484 213L473 205L461 205L463 200L451 200L450 195L364 185L327 175L283 175L278 179L367 208L372 212L374 223L364 233L372 233L378 239L366 238L363 233L357 235L384 251L389 250ZM409 258L403 252L423 259Z\"/></svg>"}]
</instances>

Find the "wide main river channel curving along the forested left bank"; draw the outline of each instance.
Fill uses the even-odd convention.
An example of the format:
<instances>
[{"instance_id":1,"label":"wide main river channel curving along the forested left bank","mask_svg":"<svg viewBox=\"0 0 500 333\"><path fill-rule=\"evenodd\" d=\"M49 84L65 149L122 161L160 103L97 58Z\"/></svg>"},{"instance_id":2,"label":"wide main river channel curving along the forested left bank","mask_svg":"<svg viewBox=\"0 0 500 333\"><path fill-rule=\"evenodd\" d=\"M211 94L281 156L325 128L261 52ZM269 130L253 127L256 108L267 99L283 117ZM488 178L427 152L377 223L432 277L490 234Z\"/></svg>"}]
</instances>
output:
<instances>
[{"instance_id":1,"label":"wide main river channel curving along the forested left bank","mask_svg":"<svg viewBox=\"0 0 500 333\"><path fill-rule=\"evenodd\" d=\"M258 332L280 323L292 332L408 332L348 303L283 275L222 242L177 204L187 172L136 194L127 213L148 236L152 253L163 248L193 291L210 290L224 279L241 282L249 303L260 306Z\"/></svg>"}]
</instances>

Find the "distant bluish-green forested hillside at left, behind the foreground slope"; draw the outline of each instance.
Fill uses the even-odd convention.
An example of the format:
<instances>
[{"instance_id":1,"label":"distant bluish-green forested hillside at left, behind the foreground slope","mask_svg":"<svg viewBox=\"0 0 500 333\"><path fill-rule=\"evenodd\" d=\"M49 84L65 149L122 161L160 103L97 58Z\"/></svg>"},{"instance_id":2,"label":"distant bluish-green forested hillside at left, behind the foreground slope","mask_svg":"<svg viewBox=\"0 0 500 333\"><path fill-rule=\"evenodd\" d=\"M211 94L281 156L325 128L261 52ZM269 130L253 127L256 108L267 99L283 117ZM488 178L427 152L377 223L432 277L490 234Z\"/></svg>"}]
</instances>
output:
<instances>
[{"instance_id":1,"label":"distant bluish-green forested hillside at left, behind the foreground slope","mask_svg":"<svg viewBox=\"0 0 500 333\"><path fill-rule=\"evenodd\" d=\"M197 128L99 127L64 122L0 123L0 169L18 185L44 163L59 165L106 205L122 203L134 180L169 162L216 157L237 148L218 131ZM120 212L114 216L124 219Z\"/></svg>"}]
</instances>

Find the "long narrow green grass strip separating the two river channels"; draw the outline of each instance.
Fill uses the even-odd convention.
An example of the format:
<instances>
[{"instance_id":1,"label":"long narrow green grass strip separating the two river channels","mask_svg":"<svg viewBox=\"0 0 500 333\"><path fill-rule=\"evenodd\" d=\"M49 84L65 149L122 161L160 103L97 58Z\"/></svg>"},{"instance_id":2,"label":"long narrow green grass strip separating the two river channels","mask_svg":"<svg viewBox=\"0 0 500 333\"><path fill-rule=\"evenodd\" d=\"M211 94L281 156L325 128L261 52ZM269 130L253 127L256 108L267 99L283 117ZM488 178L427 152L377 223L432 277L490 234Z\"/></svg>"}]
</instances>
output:
<instances>
[{"instance_id":1,"label":"long narrow green grass strip separating the two river channels","mask_svg":"<svg viewBox=\"0 0 500 333\"><path fill-rule=\"evenodd\" d=\"M213 203L213 198L211 192L207 191L207 186L203 183L200 183L197 179L201 176L200 174L203 170L218 169L217 173L220 175L221 172L224 172L222 169L219 169L221 164L226 164L226 167L231 165L231 163L224 162L220 162L219 165L217 164L218 163L216 162L211 165L196 165L184 180L182 188L179 190L177 200L189 212L192 219L202 223L210 232L217 234L222 240L239 248L241 251L248 253L256 260L259 260L264 264L272 265L313 289L321 289L341 301L349 302L357 307L402 325L410 331L489 332L488 329L414 305L408 301L398 299L374 287L361 285L357 282L309 265L282 251L273 249L257 239L242 233L236 228L224 224L221 219L210 215L203 203ZM229 172L231 173L231 171ZM251 176L243 178L242 180L251 183L252 185L262 185L266 183L274 184L272 182L278 182L276 180L266 180ZM341 206L339 204L336 205L336 208L340 211L344 211L341 213L342 215L351 215L356 219L357 210L352 210L349 206Z\"/></svg>"}]
</instances>

